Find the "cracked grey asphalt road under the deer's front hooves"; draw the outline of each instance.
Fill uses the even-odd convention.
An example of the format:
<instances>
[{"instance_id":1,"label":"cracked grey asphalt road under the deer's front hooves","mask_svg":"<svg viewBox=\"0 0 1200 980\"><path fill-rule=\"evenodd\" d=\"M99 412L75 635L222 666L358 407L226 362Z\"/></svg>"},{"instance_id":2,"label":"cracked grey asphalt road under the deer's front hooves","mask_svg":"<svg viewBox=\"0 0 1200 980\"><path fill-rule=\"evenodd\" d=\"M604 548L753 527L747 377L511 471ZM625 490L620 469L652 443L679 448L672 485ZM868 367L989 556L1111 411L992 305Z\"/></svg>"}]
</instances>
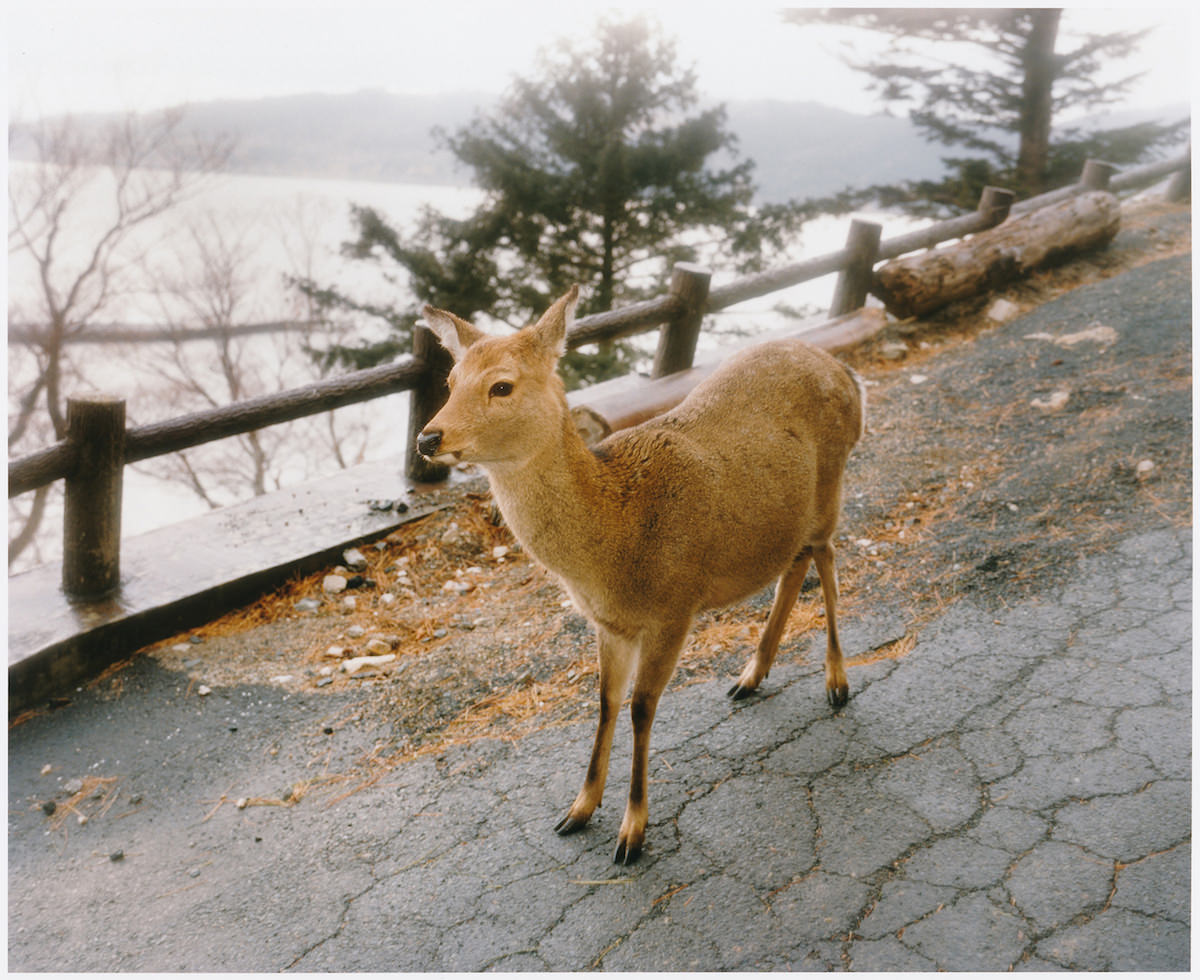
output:
<instances>
[{"instance_id":1,"label":"cracked grey asphalt road under the deer's front hooves","mask_svg":"<svg viewBox=\"0 0 1200 980\"><path fill-rule=\"evenodd\" d=\"M1139 506L852 668L841 711L811 654L746 702L668 692L631 868L628 725L563 838L590 723L304 795L370 748L346 704L142 657L8 733L8 968L1188 969L1192 534Z\"/></svg>"}]
</instances>

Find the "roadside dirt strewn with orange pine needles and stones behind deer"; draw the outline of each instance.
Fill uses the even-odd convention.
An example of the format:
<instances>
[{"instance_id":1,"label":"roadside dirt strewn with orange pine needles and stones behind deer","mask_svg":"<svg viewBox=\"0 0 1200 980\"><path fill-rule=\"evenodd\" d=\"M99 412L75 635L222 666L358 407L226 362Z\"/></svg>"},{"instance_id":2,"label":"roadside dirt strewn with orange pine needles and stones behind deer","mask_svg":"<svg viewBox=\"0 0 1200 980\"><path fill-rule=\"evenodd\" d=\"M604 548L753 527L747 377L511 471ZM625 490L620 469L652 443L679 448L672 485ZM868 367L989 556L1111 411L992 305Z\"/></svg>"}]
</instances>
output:
<instances>
[{"instance_id":1,"label":"roadside dirt strewn with orange pine needles and stones behind deer","mask_svg":"<svg viewBox=\"0 0 1200 980\"><path fill-rule=\"evenodd\" d=\"M1146 501L1165 523L1190 522L1189 255L1186 205L1127 205L1103 253L892 324L846 357L869 381L869 431L846 480L842 617L888 623L847 649L852 685L856 662L902 656L962 596L1000 606L1052 585ZM1165 318L1164 295L1178 296ZM1025 315L991 319L997 299ZM361 584L346 572L356 588L325 594L330 569L145 653L186 674L188 696L328 695L330 726L373 733L366 780L449 741L594 714L590 629L500 524L482 480L360 551ZM704 615L672 686L736 675L769 605L764 593ZM780 657L818 657L823 625L811 576ZM376 651L394 659L343 672ZM96 684L116 691L120 674Z\"/></svg>"}]
</instances>

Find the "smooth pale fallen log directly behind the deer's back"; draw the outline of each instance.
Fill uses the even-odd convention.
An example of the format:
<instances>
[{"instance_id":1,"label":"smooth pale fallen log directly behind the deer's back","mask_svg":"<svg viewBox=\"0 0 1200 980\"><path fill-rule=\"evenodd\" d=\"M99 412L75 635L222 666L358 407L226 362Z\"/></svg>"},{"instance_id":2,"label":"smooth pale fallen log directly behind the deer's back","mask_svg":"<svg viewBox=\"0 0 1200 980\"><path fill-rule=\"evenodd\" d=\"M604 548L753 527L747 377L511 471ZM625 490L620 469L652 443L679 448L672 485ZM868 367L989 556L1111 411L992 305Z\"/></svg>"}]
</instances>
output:
<instances>
[{"instance_id":1,"label":"smooth pale fallen log directly behind the deer's back","mask_svg":"<svg viewBox=\"0 0 1200 980\"><path fill-rule=\"evenodd\" d=\"M712 374L734 350L780 337L799 337L814 347L836 353L853 347L877 333L887 323L887 314L876 307L862 307L844 317L814 325L811 320L793 327L750 337L737 347L722 350L695 367L677 371L662 378L642 378L626 374L601 381L568 396L571 415L583 439L589 445L619 428L629 428L655 415L668 411L682 402L696 385Z\"/></svg>"}]
</instances>

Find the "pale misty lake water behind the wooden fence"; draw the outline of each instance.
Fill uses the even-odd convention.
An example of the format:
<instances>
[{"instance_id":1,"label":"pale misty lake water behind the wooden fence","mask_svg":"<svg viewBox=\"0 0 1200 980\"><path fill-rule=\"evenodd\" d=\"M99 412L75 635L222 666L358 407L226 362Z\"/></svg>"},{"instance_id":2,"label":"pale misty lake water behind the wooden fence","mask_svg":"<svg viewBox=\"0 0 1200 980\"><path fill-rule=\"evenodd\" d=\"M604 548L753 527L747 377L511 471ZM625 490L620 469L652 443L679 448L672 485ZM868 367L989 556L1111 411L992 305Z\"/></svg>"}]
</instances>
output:
<instances>
[{"instance_id":1,"label":"pale misty lake water behind the wooden fence","mask_svg":"<svg viewBox=\"0 0 1200 980\"><path fill-rule=\"evenodd\" d=\"M12 163L10 181L17 184L28 178L32 167ZM461 187L214 176L178 209L139 228L126 249L128 269L119 283L120 296L97 320L131 325L199 324L218 309L236 323L304 319L304 303L284 284L288 275L307 276L320 284L336 283L356 297L392 303L406 289L402 275L340 253L340 246L352 234L350 205L376 208L406 229L426 205L464 216L479 199L479 191ZM65 227L84 229L68 236L64 246L66 261L76 267L86 261L89 236L95 238L104 227L109 214L107 200L102 181L96 181L67 217ZM910 221L892 215L863 217L881 221L884 238L912 227ZM840 248L848 224L848 217L810 222L790 258ZM25 319L22 311L30 308L35 276L28 259L10 257L10 323ZM715 270L713 285L731 278ZM706 330L715 327L715 332L702 338L702 347L716 347L719 335L728 330L758 332L782 326L787 314L780 307L824 308L833 289L830 276L721 311L706 321ZM378 321L347 323L338 339L355 336L378 338L383 329ZM300 335L293 333L253 336L224 350L212 341L77 344L71 348L71 363L78 389L124 396L130 423L140 425L312 380L317 373L300 349ZM330 338L322 335L305 339L319 347ZM653 335L643 344L653 351ZM14 392L36 377L36 369L28 350L10 345L10 404ZM122 533L139 534L208 510L209 503L187 486L196 481L204 483L209 500L227 505L247 498L256 481L268 488L289 486L329 475L343 462L395 458L398 492L406 429L407 395L398 395L340 409L332 422L301 420L264 431L260 439L268 451L265 463L262 459L256 463L247 452L230 453L226 441L190 451L193 473L168 462L131 467L126 470ZM30 439L22 444L20 452L48 441L46 434L40 440ZM265 471L256 471L256 467ZM168 468L174 471L168 473ZM43 523L41 560L61 554L60 528L58 505Z\"/></svg>"}]
</instances>

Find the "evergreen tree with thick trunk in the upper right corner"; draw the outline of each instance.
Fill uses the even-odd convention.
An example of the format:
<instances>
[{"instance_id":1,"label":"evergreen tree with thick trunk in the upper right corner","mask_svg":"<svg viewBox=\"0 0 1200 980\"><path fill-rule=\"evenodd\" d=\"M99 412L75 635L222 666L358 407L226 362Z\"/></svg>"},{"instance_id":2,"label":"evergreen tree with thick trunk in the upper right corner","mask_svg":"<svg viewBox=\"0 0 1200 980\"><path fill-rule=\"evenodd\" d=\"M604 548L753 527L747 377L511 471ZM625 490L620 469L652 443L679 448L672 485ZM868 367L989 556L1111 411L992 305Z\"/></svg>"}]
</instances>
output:
<instances>
[{"instance_id":1,"label":"evergreen tree with thick trunk in the upper right corner","mask_svg":"<svg viewBox=\"0 0 1200 980\"><path fill-rule=\"evenodd\" d=\"M1133 53L1147 31L1087 35L1058 50L1062 11L1052 7L793 10L784 17L890 38L882 58L866 62L850 55L847 64L871 78L884 103L910 106L912 121L932 142L974 154L947 157L950 173L942 181L872 188L886 204L970 210L988 184L1033 197L1076 180L1087 157L1130 163L1178 139L1187 125L1093 133L1054 128L1066 110L1120 101L1138 76L1102 83L1098 73Z\"/></svg>"}]
</instances>

